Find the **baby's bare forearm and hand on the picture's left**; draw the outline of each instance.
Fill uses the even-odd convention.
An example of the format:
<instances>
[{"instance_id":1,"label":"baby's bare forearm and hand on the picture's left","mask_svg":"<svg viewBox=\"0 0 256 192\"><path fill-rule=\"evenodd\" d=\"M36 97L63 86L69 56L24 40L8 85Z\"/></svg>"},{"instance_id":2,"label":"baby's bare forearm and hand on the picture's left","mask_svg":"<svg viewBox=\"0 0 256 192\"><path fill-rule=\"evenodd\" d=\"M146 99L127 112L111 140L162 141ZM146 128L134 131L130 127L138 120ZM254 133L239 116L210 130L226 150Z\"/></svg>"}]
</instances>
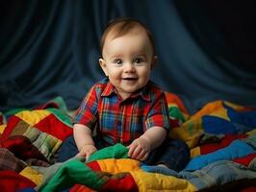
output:
<instances>
[{"instance_id":1,"label":"baby's bare forearm and hand on the picture's left","mask_svg":"<svg viewBox=\"0 0 256 192\"><path fill-rule=\"evenodd\" d=\"M82 124L75 124L73 128L74 139L79 153L76 156L86 156L88 159L97 149L91 137L90 128Z\"/></svg>"}]
</instances>

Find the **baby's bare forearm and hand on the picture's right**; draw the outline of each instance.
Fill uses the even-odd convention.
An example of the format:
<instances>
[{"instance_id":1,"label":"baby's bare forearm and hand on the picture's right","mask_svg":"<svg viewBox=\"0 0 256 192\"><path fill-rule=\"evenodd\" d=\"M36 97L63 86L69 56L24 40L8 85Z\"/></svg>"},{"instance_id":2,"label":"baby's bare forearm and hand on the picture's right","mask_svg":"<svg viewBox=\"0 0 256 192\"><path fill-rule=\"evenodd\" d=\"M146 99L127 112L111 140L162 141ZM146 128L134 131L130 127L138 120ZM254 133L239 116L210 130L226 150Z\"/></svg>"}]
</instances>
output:
<instances>
[{"instance_id":1,"label":"baby's bare forearm and hand on the picture's right","mask_svg":"<svg viewBox=\"0 0 256 192\"><path fill-rule=\"evenodd\" d=\"M164 128L152 127L128 146L128 156L138 160L145 160L149 153L160 146L165 139L166 130Z\"/></svg>"}]
</instances>

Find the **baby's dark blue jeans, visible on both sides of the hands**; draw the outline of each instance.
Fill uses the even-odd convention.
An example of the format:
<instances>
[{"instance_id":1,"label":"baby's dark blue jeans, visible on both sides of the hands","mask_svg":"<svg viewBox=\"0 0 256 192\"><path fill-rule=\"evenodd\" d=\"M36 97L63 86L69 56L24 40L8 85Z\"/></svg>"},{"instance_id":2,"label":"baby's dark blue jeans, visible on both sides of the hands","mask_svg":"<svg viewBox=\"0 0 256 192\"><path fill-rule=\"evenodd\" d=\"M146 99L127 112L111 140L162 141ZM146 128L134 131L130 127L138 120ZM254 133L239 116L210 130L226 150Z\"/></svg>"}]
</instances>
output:
<instances>
[{"instance_id":1,"label":"baby's dark blue jeans, visible on both sides of the hands","mask_svg":"<svg viewBox=\"0 0 256 192\"><path fill-rule=\"evenodd\" d=\"M97 136L93 137L93 141L98 150L110 146ZM63 162L77 154L78 149L74 137L71 135L64 140L58 161ZM190 156L190 149L184 141L167 137L162 145L153 150L143 163L146 165L165 164L169 169L179 172L186 167Z\"/></svg>"}]
</instances>

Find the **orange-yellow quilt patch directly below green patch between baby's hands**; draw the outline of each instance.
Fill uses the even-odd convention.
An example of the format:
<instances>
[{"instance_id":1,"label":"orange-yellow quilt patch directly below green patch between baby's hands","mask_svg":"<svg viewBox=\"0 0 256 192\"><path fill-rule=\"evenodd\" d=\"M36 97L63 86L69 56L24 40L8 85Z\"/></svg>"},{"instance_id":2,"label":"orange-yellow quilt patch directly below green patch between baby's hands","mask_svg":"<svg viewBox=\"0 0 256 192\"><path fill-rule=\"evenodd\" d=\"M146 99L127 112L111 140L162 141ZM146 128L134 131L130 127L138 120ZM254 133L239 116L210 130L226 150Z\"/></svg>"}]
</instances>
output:
<instances>
[{"instance_id":1,"label":"orange-yellow quilt patch directly below green patch between baby's hands","mask_svg":"<svg viewBox=\"0 0 256 192\"><path fill-rule=\"evenodd\" d=\"M108 172L111 174L117 174L121 172L129 171L142 171L140 168L140 161L134 159L126 158L108 158L97 160L101 171Z\"/></svg>"}]
</instances>

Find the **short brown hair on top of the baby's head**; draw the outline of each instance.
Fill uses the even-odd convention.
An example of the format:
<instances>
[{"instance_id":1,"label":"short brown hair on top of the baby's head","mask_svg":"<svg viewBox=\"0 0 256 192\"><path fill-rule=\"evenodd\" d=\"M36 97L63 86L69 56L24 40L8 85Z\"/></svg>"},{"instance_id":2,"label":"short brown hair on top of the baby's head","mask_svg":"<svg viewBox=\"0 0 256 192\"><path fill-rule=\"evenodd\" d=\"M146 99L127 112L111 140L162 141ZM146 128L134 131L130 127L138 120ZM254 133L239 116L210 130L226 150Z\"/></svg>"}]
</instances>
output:
<instances>
[{"instance_id":1,"label":"short brown hair on top of the baby's head","mask_svg":"<svg viewBox=\"0 0 256 192\"><path fill-rule=\"evenodd\" d=\"M141 28L143 28L145 30L145 33L148 36L149 41L152 45L153 56L155 56L156 52L155 52L155 46L154 46L154 39L153 39L151 32L140 21L138 21L134 18L129 18L129 17L115 18L114 20L111 20L107 24L107 26L103 32L103 35L101 36L101 39L100 39L101 55L102 55L105 40L112 30L115 30L115 37L118 37L118 36L126 35L128 32L130 32L131 30L133 30L134 28L136 28L138 26L140 26Z\"/></svg>"}]
</instances>

